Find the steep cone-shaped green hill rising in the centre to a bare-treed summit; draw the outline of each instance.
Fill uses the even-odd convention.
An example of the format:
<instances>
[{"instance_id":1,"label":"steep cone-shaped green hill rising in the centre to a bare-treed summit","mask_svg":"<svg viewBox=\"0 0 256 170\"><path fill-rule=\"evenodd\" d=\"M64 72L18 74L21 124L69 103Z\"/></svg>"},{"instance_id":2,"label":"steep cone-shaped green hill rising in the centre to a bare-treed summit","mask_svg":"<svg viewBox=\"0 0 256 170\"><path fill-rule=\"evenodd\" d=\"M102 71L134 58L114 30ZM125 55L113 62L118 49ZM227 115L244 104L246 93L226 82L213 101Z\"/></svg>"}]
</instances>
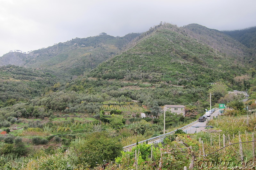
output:
<instances>
[{"instance_id":1,"label":"steep cone-shaped green hill rising in the centre to a bare-treed summit","mask_svg":"<svg viewBox=\"0 0 256 170\"><path fill-rule=\"evenodd\" d=\"M133 48L100 64L91 76L202 85L246 71L237 56L223 55L171 24L161 23L140 37Z\"/></svg>"}]
</instances>

